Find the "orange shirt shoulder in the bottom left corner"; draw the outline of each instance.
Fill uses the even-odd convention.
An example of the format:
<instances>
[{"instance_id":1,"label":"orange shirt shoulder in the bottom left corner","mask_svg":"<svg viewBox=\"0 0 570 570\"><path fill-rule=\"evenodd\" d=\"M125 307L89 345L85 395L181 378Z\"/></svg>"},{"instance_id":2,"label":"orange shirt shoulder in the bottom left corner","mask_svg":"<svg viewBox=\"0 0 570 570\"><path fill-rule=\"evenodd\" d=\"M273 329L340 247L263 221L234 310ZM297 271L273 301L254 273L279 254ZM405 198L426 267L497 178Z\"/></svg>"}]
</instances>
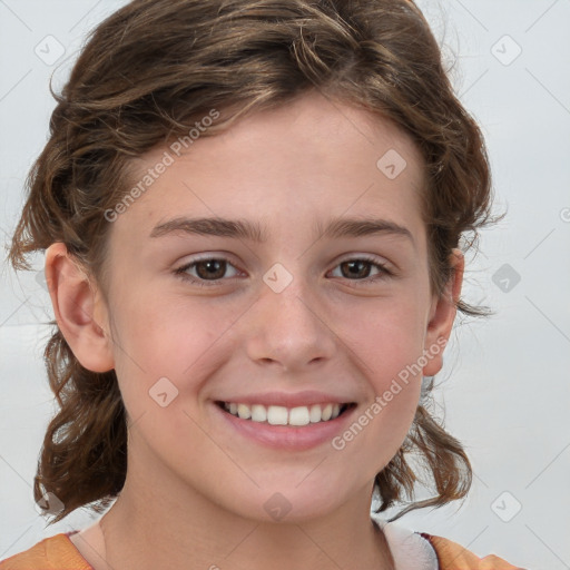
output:
<instances>
[{"instance_id":1,"label":"orange shirt shoulder in the bottom left corner","mask_svg":"<svg viewBox=\"0 0 570 570\"><path fill-rule=\"evenodd\" d=\"M92 570L61 532L0 561L0 570Z\"/></svg>"}]
</instances>

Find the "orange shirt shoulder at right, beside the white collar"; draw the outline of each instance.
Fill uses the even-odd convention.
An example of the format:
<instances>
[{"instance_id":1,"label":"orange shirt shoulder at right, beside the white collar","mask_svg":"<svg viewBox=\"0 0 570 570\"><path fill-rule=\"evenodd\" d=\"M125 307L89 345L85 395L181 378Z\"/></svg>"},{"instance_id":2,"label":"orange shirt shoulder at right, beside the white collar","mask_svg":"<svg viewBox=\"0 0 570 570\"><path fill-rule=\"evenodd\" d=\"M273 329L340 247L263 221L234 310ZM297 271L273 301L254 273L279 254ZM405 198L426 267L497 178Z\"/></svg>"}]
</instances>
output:
<instances>
[{"instance_id":1,"label":"orange shirt shoulder at right, beside the white collar","mask_svg":"<svg viewBox=\"0 0 570 570\"><path fill-rule=\"evenodd\" d=\"M441 570L523 570L494 554L479 558L461 544L443 537L435 537L426 532L420 532L420 535L428 540L435 550Z\"/></svg>"}]
</instances>

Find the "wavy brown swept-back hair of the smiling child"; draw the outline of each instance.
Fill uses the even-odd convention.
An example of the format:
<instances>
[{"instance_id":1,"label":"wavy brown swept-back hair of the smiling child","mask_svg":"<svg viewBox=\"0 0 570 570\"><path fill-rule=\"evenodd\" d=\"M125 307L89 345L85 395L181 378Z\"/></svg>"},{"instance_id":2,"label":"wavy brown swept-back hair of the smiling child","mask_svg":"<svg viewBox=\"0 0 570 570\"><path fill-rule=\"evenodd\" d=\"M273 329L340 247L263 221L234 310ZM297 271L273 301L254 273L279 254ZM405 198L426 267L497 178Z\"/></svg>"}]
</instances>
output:
<instances>
[{"instance_id":1,"label":"wavy brown swept-back hair of the smiling child","mask_svg":"<svg viewBox=\"0 0 570 570\"><path fill-rule=\"evenodd\" d=\"M212 109L245 114L276 108L311 90L387 118L425 161L422 208L430 282L441 295L450 254L493 222L482 134L453 94L440 48L409 0L135 0L90 35L33 165L10 262L62 242L105 294L109 220L128 191L132 158L186 135ZM465 314L484 314L463 301ZM75 357L57 322L45 357L60 410L43 441L35 498L65 505L52 522L89 504L100 512L121 490L127 468L126 411L115 371L95 373ZM426 395L433 384L425 386ZM471 465L422 397L402 448L375 478L377 512L413 498L423 458L438 494L402 510L440 507L466 495ZM420 480L421 481L421 480Z\"/></svg>"}]
</instances>

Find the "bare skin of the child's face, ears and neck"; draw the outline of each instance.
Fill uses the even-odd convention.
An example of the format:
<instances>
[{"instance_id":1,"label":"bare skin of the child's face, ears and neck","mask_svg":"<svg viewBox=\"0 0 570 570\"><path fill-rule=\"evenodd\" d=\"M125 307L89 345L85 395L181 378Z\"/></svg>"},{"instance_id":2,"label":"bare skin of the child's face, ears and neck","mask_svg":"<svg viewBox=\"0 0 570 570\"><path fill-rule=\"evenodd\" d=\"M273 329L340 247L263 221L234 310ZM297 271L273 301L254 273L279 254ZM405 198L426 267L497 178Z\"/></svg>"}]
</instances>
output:
<instances>
[{"instance_id":1,"label":"bare skin of the child's face, ears and neck","mask_svg":"<svg viewBox=\"0 0 570 570\"><path fill-rule=\"evenodd\" d=\"M376 161L392 148L407 165L389 179ZM167 149L138 160L139 176ZM435 296L422 183L421 156L393 124L305 95L196 140L110 224L106 295L63 244L49 247L58 324L83 366L116 370L129 417L125 488L98 524L73 537L96 570L392 568L370 519L371 493L410 429L421 374L343 450L264 448L228 429L213 401L315 389L348 396L357 417L399 372L449 338L463 257L454 250L454 277ZM268 240L149 237L181 215L259 222ZM331 217L372 215L413 239L318 239L313 229ZM365 264L351 277L343 264L362 254L394 275ZM198 256L228 259L214 286L174 274ZM275 263L293 276L281 293L263 281ZM441 368L442 352L424 375ZM178 390L166 407L148 393L164 376ZM279 521L264 509L276 492L292 507Z\"/></svg>"}]
</instances>

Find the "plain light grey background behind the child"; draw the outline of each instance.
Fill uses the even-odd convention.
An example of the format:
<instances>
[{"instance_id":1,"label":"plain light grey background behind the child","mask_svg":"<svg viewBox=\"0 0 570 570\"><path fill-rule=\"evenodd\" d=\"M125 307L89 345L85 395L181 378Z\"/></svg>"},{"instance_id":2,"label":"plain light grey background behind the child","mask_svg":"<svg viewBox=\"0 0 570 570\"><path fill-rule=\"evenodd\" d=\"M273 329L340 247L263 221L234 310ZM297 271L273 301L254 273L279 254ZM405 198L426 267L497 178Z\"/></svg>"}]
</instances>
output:
<instances>
[{"instance_id":1,"label":"plain light grey background behind the child","mask_svg":"<svg viewBox=\"0 0 570 570\"><path fill-rule=\"evenodd\" d=\"M87 31L124 3L0 0L2 242L47 138L51 73L57 69L57 89ZM479 556L567 569L570 2L422 0L420 7L449 58L459 56L453 82L482 125L497 209L508 216L482 234L464 285L468 299L490 304L497 314L456 327L438 376L445 425L465 444L474 468L472 491L463 505L416 511L399 522ZM58 61L45 61L58 49L66 50ZM42 262L39 256L38 269ZM52 309L35 273L14 276L3 264L1 275L0 560L92 520L79 511L46 528L36 510L31 483L53 411L42 363L49 333L42 323Z\"/></svg>"}]
</instances>

